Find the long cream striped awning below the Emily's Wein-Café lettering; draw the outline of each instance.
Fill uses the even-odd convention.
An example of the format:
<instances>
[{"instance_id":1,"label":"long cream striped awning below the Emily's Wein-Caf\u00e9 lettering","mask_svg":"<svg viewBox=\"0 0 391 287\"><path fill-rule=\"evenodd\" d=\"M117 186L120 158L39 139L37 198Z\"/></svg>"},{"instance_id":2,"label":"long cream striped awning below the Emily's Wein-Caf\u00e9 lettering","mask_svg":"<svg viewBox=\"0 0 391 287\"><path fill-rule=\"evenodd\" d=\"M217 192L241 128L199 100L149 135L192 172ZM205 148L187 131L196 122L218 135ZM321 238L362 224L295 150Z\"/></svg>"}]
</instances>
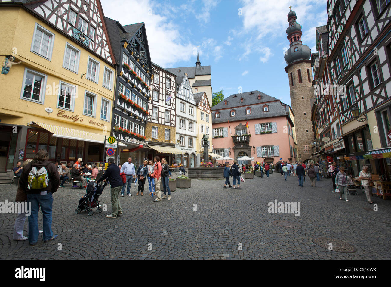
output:
<instances>
[{"instance_id":1,"label":"long cream striped awning below the Emily's Wein-Caf\u00e9 lettering","mask_svg":"<svg viewBox=\"0 0 391 287\"><path fill-rule=\"evenodd\" d=\"M53 126L44 123L34 122L45 130L51 132L54 137L61 137L64 139L76 139L78 141L88 141L90 143L104 143L104 134L94 134L84 130L75 130L73 128L64 128L63 126ZM118 146L127 146L121 142Z\"/></svg>"}]
</instances>

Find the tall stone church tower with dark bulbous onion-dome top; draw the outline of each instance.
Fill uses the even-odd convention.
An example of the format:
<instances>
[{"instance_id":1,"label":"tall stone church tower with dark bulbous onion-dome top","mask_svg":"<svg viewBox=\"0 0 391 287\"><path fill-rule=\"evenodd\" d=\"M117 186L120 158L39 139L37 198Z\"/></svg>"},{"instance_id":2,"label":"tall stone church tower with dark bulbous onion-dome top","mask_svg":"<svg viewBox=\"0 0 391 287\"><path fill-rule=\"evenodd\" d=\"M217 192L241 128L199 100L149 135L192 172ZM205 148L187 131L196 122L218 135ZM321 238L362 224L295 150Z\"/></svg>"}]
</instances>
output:
<instances>
[{"instance_id":1,"label":"tall stone church tower with dark bulbous onion-dome top","mask_svg":"<svg viewBox=\"0 0 391 287\"><path fill-rule=\"evenodd\" d=\"M292 8L292 7L289 7ZM286 30L289 49L285 52L285 72L288 73L291 106L294 113L299 161L311 158L314 132L311 121L312 87L311 49L301 42L301 25L296 23L296 13L289 11Z\"/></svg>"}]
</instances>

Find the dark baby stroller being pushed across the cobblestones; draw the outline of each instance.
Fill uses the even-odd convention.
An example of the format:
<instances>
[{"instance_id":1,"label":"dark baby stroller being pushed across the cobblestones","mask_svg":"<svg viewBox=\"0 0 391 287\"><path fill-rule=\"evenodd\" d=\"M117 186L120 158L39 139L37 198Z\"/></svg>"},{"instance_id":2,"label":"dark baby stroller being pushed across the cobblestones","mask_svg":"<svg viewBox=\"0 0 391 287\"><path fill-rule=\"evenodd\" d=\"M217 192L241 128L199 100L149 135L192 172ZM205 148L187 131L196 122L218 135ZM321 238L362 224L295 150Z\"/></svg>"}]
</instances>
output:
<instances>
[{"instance_id":1,"label":"dark baby stroller being pushed across the cobblestones","mask_svg":"<svg viewBox=\"0 0 391 287\"><path fill-rule=\"evenodd\" d=\"M102 208L99 205L99 196L102 194L104 188L107 185L107 182L100 185L95 185L95 182L90 181L87 184L86 187L86 194L81 197L79 200L79 206L75 209L75 213L81 213L81 211L85 210L88 215L93 215L94 212L92 211L93 208L97 207L97 213L102 212Z\"/></svg>"}]
</instances>

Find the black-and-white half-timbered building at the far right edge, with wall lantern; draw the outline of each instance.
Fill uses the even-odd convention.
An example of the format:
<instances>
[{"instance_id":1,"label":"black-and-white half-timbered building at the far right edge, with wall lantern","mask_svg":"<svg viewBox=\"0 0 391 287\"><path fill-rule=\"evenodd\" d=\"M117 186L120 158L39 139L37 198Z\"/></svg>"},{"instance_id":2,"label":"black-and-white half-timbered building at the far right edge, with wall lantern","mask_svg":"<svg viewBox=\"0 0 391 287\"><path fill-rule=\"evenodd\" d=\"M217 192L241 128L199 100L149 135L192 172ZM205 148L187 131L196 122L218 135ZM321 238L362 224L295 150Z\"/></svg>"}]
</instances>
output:
<instances>
[{"instance_id":1,"label":"black-and-white half-timbered building at the far right edge, with wall lantern","mask_svg":"<svg viewBox=\"0 0 391 287\"><path fill-rule=\"evenodd\" d=\"M390 0L328 0L328 58L348 173L363 165L389 174L391 161L370 160L389 148L391 116ZM334 85L333 85L334 86Z\"/></svg>"}]
</instances>

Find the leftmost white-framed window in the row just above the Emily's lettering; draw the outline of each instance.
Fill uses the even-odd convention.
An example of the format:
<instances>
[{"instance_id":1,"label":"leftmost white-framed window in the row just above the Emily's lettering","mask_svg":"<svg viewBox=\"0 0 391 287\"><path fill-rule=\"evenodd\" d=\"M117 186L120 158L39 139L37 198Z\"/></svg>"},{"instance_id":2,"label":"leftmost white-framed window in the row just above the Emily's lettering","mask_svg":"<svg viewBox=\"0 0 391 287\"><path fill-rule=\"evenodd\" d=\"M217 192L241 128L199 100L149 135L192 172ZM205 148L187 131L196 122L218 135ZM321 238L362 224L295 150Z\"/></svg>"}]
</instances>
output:
<instances>
[{"instance_id":1,"label":"leftmost white-framed window in the row just above the Emily's lettering","mask_svg":"<svg viewBox=\"0 0 391 287\"><path fill-rule=\"evenodd\" d=\"M45 97L46 76L33 70L25 69L21 99L43 104Z\"/></svg>"}]
</instances>

